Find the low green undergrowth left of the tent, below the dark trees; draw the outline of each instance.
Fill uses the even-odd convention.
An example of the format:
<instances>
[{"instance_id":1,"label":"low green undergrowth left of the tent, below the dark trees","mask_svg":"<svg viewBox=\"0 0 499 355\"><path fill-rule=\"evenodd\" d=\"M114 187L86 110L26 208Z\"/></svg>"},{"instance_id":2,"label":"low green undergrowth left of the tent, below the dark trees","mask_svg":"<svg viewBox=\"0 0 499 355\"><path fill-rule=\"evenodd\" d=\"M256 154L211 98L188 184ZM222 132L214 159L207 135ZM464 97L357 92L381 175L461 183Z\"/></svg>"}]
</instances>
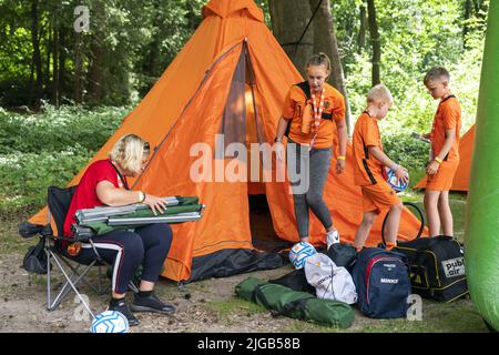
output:
<instances>
[{"instance_id":1,"label":"low green undergrowth left of the tent, below the dark trees","mask_svg":"<svg viewBox=\"0 0 499 355\"><path fill-rule=\"evenodd\" d=\"M47 187L65 186L108 141L130 108L0 109L0 210L41 207Z\"/></svg>"}]
</instances>

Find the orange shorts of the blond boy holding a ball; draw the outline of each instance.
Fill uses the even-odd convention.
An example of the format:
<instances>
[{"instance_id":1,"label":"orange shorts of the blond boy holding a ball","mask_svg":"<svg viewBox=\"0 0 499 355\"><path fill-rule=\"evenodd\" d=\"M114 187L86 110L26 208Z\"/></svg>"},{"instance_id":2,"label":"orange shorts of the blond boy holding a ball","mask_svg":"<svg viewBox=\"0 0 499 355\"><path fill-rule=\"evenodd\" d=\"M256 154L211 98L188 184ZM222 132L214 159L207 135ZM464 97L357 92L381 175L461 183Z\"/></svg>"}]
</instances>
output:
<instances>
[{"instance_id":1,"label":"orange shorts of the blond boy holding a ball","mask_svg":"<svg viewBox=\"0 0 499 355\"><path fill-rule=\"evenodd\" d=\"M375 185L360 186L363 190L364 212L381 213L393 205L401 203L394 189L386 181L378 181Z\"/></svg>"}]
</instances>

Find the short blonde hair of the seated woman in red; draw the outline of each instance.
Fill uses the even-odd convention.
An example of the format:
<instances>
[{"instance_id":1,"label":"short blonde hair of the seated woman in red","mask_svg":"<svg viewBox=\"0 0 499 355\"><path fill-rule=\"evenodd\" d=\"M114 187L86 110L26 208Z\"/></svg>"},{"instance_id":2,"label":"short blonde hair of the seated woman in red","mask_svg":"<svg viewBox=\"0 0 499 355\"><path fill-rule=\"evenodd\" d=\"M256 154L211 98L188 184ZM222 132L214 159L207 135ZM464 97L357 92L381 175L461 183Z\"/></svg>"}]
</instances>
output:
<instances>
[{"instance_id":1,"label":"short blonde hair of the seated woman in red","mask_svg":"<svg viewBox=\"0 0 499 355\"><path fill-rule=\"evenodd\" d=\"M114 143L109 158L129 173L140 173L142 160L150 153L149 143L139 135L125 134Z\"/></svg>"}]
</instances>

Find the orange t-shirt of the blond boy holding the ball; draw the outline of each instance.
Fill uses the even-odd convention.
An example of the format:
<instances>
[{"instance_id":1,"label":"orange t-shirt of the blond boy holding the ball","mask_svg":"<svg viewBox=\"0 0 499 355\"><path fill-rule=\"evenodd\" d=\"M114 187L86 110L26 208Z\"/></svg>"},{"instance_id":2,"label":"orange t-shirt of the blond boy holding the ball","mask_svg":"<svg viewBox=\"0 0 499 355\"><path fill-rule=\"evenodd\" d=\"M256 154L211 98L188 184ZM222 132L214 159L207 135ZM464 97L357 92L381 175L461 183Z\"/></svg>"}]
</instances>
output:
<instances>
[{"instance_id":1,"label":"orange t-shirt of the blond boy holding the ball","mask_svg":"<svg viewBox=\"0 0 499 355\"><path fill-rule=\"evenodd\" d=\"M357 119L353 136L354 145L354 183L366 186L384 181L383 164L369 154L369 145L379 146L383 151L381 134L378 121L364 112Z\"/></svg>"}]
</instances>

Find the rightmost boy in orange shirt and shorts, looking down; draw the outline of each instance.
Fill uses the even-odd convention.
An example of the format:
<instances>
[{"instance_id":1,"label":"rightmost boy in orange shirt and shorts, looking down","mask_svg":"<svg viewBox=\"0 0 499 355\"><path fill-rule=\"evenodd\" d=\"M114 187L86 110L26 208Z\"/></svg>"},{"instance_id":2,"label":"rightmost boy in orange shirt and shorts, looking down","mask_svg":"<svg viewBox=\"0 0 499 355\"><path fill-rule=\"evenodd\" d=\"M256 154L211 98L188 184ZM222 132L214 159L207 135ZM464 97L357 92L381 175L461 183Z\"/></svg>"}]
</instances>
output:
<instances>
[{"instance_id":1,"label":"rightmost boy in orange shirt and shorts, looking down","mask_svg":"<svg viewBox=\"0 0 499 355\"><path fill-rule=\"evenodd\" d=\"M430 163L426 169L427 184L425 209L428 215L430 236L454 236L452 213L449 206L449 190L459 165L459 131L461 109L450 92L450 75L445 68L432 68L424 83L435 100L440 100L434 118L431 133L424 136L431 141Z\"/></svg>"}]
</instances>

